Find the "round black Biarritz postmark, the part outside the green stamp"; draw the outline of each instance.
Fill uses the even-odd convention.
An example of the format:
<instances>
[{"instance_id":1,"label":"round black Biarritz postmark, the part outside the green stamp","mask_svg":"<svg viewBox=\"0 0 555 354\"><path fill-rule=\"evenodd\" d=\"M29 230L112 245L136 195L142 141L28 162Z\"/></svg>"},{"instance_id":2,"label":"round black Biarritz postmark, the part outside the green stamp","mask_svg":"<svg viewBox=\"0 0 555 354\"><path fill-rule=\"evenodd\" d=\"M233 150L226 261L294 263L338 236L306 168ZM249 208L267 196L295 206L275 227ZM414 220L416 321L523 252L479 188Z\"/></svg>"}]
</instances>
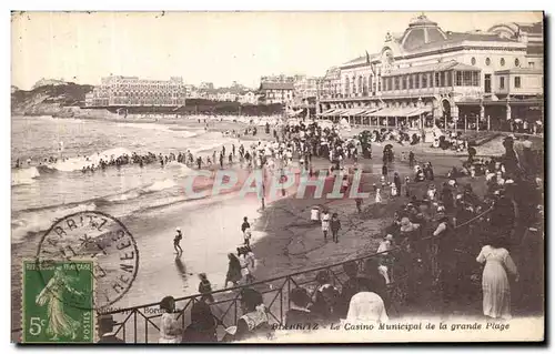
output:
<instances>
[{"instance_id":1,"label":"round black Biarritz postmark, the part outside the green stamp","mask_svg":"<svg viewBox=\"0 0 555 354\"><path fill-rule=\"evenodd\" d=\"M41 239L36 263L87 260L95 261L91 270L95 280L91 297L98 311L121 300L139 271L139 250L133 235L118 219L98 211L78 212L58 220Z\"/></svg>"}]
</instances>

